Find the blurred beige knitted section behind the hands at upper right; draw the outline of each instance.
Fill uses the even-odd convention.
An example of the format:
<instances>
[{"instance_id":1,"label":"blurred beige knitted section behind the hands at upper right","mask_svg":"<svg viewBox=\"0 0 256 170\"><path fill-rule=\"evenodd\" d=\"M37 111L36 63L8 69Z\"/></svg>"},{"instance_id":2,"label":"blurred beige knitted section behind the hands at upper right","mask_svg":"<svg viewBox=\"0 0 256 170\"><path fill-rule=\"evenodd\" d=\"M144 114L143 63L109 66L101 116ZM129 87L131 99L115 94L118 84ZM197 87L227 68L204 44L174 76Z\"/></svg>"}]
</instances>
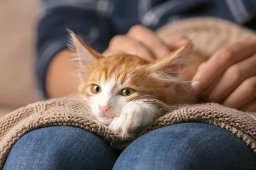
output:
<instances>
[{"instance_id":1,"label":"blurred beige knitted section behind the hands at upper right","mask_svg":"<svg viewBox=\"0 0 256 170\"><path fill-rule=\"evenodd\" d=\"M167 43L177 35L186 35L193 40L196 50L209 56L224 45L255 35L252 30L212 17L170 23L157 30L157 34Z\"/></svg>"}]
</instances>

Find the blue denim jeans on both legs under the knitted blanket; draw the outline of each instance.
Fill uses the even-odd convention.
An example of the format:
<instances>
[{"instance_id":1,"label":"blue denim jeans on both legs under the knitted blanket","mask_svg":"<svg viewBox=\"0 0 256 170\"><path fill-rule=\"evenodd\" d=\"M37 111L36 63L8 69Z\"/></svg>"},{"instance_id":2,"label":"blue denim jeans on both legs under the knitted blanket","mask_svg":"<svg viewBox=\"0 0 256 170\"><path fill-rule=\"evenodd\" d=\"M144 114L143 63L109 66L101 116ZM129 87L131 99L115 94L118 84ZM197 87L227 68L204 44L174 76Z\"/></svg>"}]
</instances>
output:
<instances>
[{"instance_id":1,"label":"blue denim jeans on both legs under the knitted blanket","mask_svg":"<svg viewBox=\"0 0 256 170\"><path fill-rule=\"evenodd\" d=\"M233 133L202 123L163 127L122 153L79 127L33 130L12 147L4 170L255 170L256 156Z\"/></svg>"}]
</instances>

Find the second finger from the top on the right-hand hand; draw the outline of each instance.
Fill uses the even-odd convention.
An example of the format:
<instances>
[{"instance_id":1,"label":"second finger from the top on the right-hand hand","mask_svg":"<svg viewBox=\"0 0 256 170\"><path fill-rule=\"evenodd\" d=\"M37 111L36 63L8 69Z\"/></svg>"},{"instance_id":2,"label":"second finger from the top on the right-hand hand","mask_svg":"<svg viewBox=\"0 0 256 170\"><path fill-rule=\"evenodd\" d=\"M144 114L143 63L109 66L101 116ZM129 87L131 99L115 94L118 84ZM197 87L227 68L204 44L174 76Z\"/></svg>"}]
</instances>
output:
<instances>
[{"instance_id":1,"label":"second finger from the top on the right-hand hand","mask_svg":"<svg viewBox=\"0 0 256 170\"><path fill-rule=\"evenodd\" d=\"M223 77L209 94L212 102L223 101L245 79L256 75L256 55L239 62L225 71Z\"/></svg>"}]
</instances>

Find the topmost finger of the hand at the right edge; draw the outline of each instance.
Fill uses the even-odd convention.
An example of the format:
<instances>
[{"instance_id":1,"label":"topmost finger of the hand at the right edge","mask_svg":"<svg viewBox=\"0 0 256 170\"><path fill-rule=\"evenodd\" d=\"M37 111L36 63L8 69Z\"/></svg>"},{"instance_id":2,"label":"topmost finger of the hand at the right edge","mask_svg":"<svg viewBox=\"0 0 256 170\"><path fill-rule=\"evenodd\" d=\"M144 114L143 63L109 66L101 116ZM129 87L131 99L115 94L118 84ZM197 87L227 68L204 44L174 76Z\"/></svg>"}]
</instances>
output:
<instances>
[{"instance_id":1,"label":"topmost finger of the hand at the right edge","mask_svg":"<svg viewBox=\"0 0 256 170\"><path fill-rule=\"evenodd\" d=\"M256 37L249 37L221 48L207 61L207 66L199 70L193 81L200 84L197 91L204 91L216 77L231 65L256 53Z\"/></svg>"}]
</instances>

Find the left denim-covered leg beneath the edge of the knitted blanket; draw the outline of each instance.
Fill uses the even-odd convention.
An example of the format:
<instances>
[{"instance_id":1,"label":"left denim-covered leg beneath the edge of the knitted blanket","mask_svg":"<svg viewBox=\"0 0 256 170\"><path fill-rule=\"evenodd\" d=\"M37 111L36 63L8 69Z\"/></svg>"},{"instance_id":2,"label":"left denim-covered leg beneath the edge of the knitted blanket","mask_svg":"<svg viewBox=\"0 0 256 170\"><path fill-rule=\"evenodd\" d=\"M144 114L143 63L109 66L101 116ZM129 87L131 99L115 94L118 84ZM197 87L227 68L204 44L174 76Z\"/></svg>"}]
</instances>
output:
<instances>
[{"instance_id":1,"label":"left denim-covered leg beneath the edge of the knitted blanket","mask_svg":"<svg viewBox=\"0 0 256 170\"><path fill-rule=\"evenodd\" d=\"M104 139L71 126L33 130L12 147L4 170L111 170L119 152Z\"/></svg>"}]
</instances>

